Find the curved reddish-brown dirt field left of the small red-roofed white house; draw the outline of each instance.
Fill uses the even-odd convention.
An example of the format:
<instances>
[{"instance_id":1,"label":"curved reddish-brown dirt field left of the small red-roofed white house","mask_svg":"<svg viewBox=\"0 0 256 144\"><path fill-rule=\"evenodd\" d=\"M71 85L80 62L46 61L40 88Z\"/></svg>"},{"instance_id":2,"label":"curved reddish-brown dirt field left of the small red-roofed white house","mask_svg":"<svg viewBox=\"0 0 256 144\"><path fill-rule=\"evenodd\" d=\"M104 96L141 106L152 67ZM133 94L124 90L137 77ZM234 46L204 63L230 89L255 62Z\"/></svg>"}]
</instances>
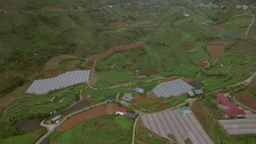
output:
<instances>
[{"instance_id":1,"label":"curved reddish-brown dirt field left of the small red-roofed white house","mask_svg":"<svg viewBox=\"0 0 256 144\"><path fill-rule=\"evenodd\" d=\"M78 113L77 115L72 116L62 125L60 125L60 127L57 128L57 131L64 132L66 130L69 130L78 123L83 122L85 119L90 119L102 115L110 115L113 113L115 105L117 104L112 103L110 106L100 105L84 112Z\"/></svg>"}]
</instances>

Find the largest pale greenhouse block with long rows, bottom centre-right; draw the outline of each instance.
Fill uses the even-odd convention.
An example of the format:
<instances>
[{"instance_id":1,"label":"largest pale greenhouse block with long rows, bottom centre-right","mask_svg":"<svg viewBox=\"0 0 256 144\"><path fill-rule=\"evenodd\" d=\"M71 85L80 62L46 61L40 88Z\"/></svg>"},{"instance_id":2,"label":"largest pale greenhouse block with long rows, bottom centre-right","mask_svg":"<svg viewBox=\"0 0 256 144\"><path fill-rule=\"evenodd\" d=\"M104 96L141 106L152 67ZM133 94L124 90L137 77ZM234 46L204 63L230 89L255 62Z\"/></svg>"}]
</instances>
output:
<instances>
[{"instance_id":1,"label":"largest pale greenhouse block with long rows, bottom centre-right","mask_svg":"<svg viewBox=\"0 0 256 144\"><path fill-rule=\"evenodd\" d=\"M164 111L143 115L143 125L155 134L177 143L213 143L192 113Z\"/></svg>"}]
</instances>

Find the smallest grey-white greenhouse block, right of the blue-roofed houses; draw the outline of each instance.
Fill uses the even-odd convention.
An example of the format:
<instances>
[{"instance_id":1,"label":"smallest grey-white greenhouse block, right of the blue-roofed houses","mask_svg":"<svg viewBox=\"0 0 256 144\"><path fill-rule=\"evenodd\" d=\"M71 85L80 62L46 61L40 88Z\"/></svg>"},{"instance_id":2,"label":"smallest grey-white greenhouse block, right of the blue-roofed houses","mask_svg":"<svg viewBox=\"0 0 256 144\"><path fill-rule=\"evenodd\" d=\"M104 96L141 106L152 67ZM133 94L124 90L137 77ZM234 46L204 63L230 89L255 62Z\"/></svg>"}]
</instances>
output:
<instances>
[{"instance_id":1,"label":"smallest grey-white greenhouse block, right of the blue-roofed houses","mask_svg":"<svg viewBox=\"0 0 256 144\"><path fill-rule=\"evenodd\" d=\"M153 89L153 93L156 97L177 97L188 90L193 89L188 83L181 79L177 79L170 82L163 82Z\"/></svg>"}]
</instances>

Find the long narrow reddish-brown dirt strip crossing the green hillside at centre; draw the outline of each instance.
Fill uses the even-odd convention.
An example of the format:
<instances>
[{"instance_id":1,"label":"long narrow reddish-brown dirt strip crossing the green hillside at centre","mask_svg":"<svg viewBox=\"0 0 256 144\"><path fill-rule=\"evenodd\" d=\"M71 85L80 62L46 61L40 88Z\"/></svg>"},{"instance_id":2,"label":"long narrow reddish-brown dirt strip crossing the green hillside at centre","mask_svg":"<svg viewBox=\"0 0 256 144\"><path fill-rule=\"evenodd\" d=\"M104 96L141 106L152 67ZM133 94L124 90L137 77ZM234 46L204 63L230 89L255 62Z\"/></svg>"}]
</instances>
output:
<instances>
[{"instance_id":1,"label":"long narrow reddish-brown dirt strip crossing the green hillside at centre","mask_svg":"<svg viewBox=\"0 0 256 144\"><path fill-rule=\"evenodd\" d=\"M110 55L114 51L129 50L131 48L141 46L142 44L143 44L143 41L137 41L136 43L132 43L132 44L129 44L129 45L121 45L121 46L117 46L117 47L112 47L112 48L108 49L107 51L105 51L103 53L90 56L90 57L88 57L88 59L93 60L93 61L98 61L98 60L102 59L103 57L106 57L106 56Z\"/></svg>"}]
</instances>

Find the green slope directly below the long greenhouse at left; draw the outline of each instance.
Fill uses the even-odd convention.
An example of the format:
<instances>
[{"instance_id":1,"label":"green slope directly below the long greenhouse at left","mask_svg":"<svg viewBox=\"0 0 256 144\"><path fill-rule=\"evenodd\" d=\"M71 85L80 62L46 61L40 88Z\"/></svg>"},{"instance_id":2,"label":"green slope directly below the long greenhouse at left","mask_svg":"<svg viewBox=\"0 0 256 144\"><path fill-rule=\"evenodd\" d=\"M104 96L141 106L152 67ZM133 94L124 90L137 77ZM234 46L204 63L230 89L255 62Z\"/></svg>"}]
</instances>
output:
<instances>
[{"instance_id":1,"label":"green slope directly below the long greenhouse at left","mask_svg":"<svg viewBox=\"0 0 256 144\"><path fill-rule=\"evenodd\" d=\"M77 85L59 89L45 95L24 94L26 90L22 91L22 98L19 98L15 103L10 105L6 115L0 119L0 124L4 125L0 130L0 138L4 139L8 136L22 134L13 125L19 120L46 118L49 116L49 112L60 111L71 105L74 101L79 99L79 92L83 87L85 87L85 85ZM19 93L16 94L19 95ZM51 103L49 99L54 96L57 98ZM58 101L61 99L62 103L59 103Z\"/></svg>"}]
</instances>

